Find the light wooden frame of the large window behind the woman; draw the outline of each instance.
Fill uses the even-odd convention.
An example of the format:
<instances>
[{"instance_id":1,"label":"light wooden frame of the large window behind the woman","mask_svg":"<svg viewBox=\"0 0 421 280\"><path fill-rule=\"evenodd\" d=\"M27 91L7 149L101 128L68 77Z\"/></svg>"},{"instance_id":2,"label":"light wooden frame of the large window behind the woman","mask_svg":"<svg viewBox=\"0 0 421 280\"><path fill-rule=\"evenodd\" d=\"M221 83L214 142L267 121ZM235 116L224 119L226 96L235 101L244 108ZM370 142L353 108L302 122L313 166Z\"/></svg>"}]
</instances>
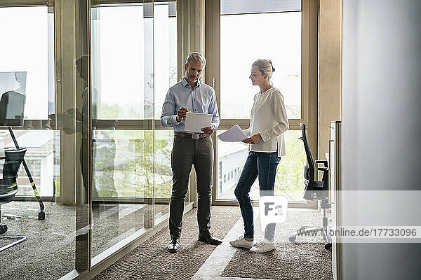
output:
<instances>
[{"instance_id":1,"label":"light wooden frame of the large window behind the woman","mask_svg":"<svg viewBox=\"0 0 421 280\"><path fill-rule=\"evenodd\" d=\"M302 0L302 59L301 59L301 118L289 119L289 130L300 130L300 123L307 125L307 137L309 146L313 154L317 155L317 28L319 1ZM206 64L205 82L215 89L218 109L220 114L223 108L220 107L220 1L206 1L206 25L205 25L205 52L208 63ZM220 120L220 130L228 130L232 125L238 124L242 129L250 127L249 119ZM213 170L213 205L234 206L238 203L229 200L217 200L218 184L218 145L215 135L213 135L213 145L215 151L215 168ZM253 201L253 206L258 202ZM316 208L314 201L289 202L288 207Z\"/></svg>"}]
</instances>

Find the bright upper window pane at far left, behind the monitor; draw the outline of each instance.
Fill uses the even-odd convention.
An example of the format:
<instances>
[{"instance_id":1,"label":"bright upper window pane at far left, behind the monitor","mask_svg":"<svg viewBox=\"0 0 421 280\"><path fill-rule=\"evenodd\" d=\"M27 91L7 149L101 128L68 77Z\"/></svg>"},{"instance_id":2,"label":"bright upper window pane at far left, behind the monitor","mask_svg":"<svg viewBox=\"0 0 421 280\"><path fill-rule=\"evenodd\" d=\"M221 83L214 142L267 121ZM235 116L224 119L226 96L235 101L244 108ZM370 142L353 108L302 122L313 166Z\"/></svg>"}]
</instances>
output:
<instances>
[{"instance_id":1,"label":"bright upper window pane at far left, behind the monitor","mask_svg":"<svg viewBox=\"0 0 421 280\"><path fill-rule=\"evenodd\" d=\"M55 80L53 20L46 6L0 8L0 71L27 73L26 120L48 120L48 108L53 102L49 100ZM13 28L4 28L7 26ZM31 125L27 122L28 128Z\"/></svg>"}]
</instances>

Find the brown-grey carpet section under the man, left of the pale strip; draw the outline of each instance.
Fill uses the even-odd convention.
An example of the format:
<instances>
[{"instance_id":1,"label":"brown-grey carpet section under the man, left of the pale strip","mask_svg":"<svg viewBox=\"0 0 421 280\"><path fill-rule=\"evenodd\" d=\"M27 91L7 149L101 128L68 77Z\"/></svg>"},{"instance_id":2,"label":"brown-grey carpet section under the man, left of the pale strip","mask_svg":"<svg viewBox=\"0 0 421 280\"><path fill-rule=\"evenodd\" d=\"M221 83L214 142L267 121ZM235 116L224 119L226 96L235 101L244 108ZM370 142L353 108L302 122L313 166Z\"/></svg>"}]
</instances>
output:
<instances>
[{"instance_id":1,"label":"brown-grey carpet section under the man, left of the pale strip","mask_svg":"<svg viewBox=\"0 0 421 280\"><path fill-rule=\"evenodd\" d=\"M191 279L215 249L215 246L197 240L199 229L196 213L196 209L193 209L183 218L178 253L166 251L170 238L168 228L164 228L95 279ZM238 207L212 207L212 213L211 231L220 238L227 235L241 216Z\"/></svg>"}]
</instances>

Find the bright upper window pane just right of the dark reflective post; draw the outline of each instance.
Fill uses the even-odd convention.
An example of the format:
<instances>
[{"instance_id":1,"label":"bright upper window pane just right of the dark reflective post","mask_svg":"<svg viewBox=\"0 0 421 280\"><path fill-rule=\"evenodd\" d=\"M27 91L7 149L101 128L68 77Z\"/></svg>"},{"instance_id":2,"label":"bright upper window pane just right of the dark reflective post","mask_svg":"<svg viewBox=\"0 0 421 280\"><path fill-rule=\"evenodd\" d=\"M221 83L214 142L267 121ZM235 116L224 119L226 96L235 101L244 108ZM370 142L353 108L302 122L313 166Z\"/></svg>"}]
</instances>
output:
<instances>
[{"instance_id":1,"label":"bright upper window pane just right of the dark reflective post","mask_svg":"<svg viewBox=\"0 0 421 280\"><path fill-rule=\"evenodd\" d=\"M97 118L145 118L144 89L152 85L153 78L152 72L145 69L145 59L153 57L152 18L145 18L145 8L144 5L91 8L92 78L96 95L93 105L98 107Z\"/></svg>"}]
</instances>

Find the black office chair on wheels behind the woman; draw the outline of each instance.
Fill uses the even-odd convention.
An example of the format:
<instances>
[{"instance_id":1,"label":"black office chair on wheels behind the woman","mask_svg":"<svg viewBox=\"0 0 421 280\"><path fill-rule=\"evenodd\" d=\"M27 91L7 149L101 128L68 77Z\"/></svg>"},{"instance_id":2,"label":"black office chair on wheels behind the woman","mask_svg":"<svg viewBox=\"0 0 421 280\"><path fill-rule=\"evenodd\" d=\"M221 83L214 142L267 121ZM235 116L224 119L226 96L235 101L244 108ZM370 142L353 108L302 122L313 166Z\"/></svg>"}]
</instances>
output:
<instances>
[{"instance_id":1,"label":"black office chair on wheels behind the woman","mask_svg":"<svg viewBox=\"0 0 421 280\"><path fill-rule=\"evenodd\" d=\"M305 154L307 156L307 165L304 167L304 184L305 190L303 197L306 200L320 200L320 207L323 212L322 226L320 225L302 225L302 227L297 231L297 233L289 237L289 241L295 242L295 239L298 235L306 236L305 232L321 232L323 240L327 243L325 248L328 250L332 247L332 237L328 234L328 216L327 209L330 208L330 203L328 200L328 161L327 160L316 160L313 161L312 152L310 151L309 144L307 142L307 132L305 130L305 124L300 123L300 128L302 130L302 137L299 137L300 140L304 143ZM323 164L323 167L317 167L317 171L323 171L322 181L314 181L314 162L316 164ZM311 235L309 235L311 236Z\"/></svg>"}]
</instances>

